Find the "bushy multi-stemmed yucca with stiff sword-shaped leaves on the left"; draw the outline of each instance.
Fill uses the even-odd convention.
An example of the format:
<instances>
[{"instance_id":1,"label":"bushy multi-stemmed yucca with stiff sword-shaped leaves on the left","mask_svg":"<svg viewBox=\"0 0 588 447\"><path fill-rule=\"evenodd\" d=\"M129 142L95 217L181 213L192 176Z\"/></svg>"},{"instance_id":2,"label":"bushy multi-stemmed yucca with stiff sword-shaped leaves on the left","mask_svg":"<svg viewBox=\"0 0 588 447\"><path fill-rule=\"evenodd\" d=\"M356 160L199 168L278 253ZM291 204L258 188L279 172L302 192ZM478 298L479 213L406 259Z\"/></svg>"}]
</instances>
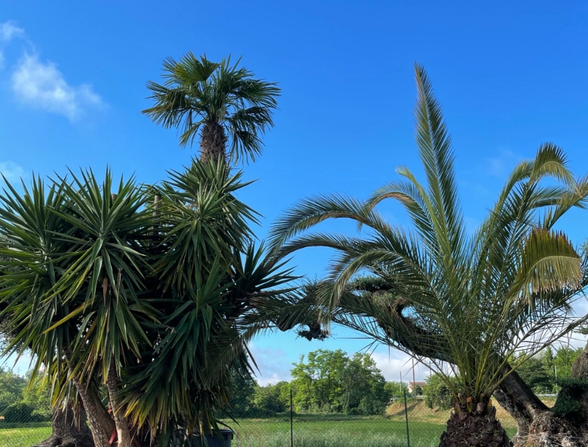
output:
<instances>
[{"instance_id":1,"label":"bushy multi-stemmed yucca with stiff sword-shaped leaves on the left","mask_svg":"<svg viewBox=\"0 0 588 447\"><path fill-rule=\"evenodd\" d=\"M240 177L196 161L157 186L88 171L0 196L6 351L35 354L55 406L82 401L96 447L215 430L230 366L251 370L245 317L293 277L254 246Z\"/></svg>"}]
</instances>

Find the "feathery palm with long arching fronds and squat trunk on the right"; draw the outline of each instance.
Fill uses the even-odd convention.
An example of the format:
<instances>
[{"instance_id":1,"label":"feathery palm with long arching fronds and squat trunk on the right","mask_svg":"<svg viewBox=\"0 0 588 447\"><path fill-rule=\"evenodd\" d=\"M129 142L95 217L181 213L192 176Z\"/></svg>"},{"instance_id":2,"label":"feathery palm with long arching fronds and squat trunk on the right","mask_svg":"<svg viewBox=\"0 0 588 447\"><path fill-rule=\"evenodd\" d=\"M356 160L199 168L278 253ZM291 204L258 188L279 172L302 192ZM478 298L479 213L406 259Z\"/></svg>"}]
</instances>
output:
<instances>
[{"instance_id":1,"label":"feathery palm with long arching fronds and squat trunk on the right","mask_svg":"<svg viewBox=\"0 0 588 447\"><path fill-rule=\"evenodd\" d=\"M426 184L401 167L405 179L368 200L318 196L288 210L272 229L279 258L305 247L338 253L328 279L288 314L295 321L314 309L323 322L432 362L455 402L441 446L508 446L491 397L518 366L509 359L518 352L532 356L582 323L569 311L587 284L586 267L554 224L572 207L585 207L588 179L573 177L559 147L542 145L534 159L516 166L470 235L441 107L419 65L416 82L416 141ZM559 183L545 185L545 178ZM387 198L404 206L413 228L391 226L378 214L376 205ZM341 218L368 235L304 234ZM371 276L358 278L361 272Z\"/></svg>"}]
</instances>

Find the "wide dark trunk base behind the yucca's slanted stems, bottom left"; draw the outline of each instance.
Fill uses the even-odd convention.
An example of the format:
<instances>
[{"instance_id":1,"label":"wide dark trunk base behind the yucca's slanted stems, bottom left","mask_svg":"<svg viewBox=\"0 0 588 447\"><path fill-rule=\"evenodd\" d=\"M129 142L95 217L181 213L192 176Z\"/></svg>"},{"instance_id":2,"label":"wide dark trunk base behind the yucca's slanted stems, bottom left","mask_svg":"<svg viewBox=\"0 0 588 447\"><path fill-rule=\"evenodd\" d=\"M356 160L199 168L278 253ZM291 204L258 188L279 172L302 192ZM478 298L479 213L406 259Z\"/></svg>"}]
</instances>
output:
<instances>
[{"instance_id":1,"label":"wide dark trunk base behind the yucca's slanted stems, bottom left","mask_svg":"<svg viewBox=\"0 0 588 447\"><path fill-rule=\"evenodd\" d=\"M83 407L80 407L77 414L74 414L70 406L65 410L53 409L51 437L34 447L94 447L86 418Z\"/></svg>"}]
</instances>

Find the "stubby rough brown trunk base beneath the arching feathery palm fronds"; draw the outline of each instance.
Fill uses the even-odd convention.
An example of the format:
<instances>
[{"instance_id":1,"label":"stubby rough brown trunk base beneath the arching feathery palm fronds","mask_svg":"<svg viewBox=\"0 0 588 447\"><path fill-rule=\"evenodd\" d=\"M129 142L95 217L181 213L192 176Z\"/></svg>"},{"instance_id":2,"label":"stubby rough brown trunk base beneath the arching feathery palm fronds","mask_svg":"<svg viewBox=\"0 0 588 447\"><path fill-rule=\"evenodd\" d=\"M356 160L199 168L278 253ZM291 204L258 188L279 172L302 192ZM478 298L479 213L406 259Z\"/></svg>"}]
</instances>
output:
<instances>
[{"instance_id":1,"label":"stubby rough brown trunk base beneath the arching feathery palm fronds","mask_svg":"<svg viewBox=\"0 0 588 447\"><path fill-rule=\"evenodd\" d=\"M446 431L441 434L439 447L510 447L504 427L496 418L496 409L477 414L467 411L451 412Z\"/></svg>"}]
</instances>

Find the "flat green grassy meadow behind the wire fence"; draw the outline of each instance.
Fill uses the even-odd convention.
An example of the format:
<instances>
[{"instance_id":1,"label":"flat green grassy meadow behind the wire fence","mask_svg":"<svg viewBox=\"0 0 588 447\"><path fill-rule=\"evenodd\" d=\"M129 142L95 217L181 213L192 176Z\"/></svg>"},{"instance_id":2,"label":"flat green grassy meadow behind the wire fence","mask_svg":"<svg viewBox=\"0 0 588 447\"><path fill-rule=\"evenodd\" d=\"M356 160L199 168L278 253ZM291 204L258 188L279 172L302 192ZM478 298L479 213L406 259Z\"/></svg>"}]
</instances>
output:
<instances>
[{"instance_id":1,"label":"flat green grassy meadow behind the wire fence","mask_svg":"<svg viewBox=\"0 0 588 447\"><path fill-rule=\"evenodd\" d=\"M552 406L554 398L545 398ZM508 434L516 432L515 421L502 408L499 419ZM445 427L448 411L433 411L422 400L409 402L409 434L412 447L435 447ZM296 447L404 447L406 423L404 404L392 404L385 416L344 416L337 414L297 414L294 416ZM233 447L287 447L290 445L288 416L242 419L235 430ZM4 424L0 422L0 447L31 447L49 437L49 423Z\"/></svg>"}]
</instances>

